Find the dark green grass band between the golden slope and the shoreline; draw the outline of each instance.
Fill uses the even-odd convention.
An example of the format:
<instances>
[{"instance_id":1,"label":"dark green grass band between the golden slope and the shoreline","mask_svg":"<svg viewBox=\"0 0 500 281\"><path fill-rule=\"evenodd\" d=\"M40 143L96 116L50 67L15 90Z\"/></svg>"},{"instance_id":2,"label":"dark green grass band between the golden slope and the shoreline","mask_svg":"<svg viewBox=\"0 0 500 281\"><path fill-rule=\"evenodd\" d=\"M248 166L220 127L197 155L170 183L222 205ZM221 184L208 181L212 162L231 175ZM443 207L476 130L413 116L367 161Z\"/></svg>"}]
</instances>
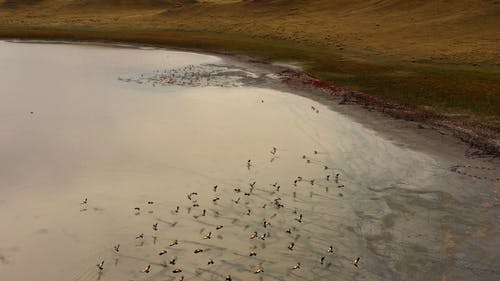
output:
<instances>
[{"instance_id":1,"label":"dark green grass band between the golden slope and the shoreline","mask_svg":"<svg viewBox=\"0 0 500 281\"><path fill-rule=\"evenodd\" d=\"M160 44L293 61L323 80L389 102L460 116L500 129L500 73L456 66L374 62L343 57L334 50L283 40L221 32L78 26L0 28L0 36L40 39L108 40Z\"/></svg>"}]
</instances>

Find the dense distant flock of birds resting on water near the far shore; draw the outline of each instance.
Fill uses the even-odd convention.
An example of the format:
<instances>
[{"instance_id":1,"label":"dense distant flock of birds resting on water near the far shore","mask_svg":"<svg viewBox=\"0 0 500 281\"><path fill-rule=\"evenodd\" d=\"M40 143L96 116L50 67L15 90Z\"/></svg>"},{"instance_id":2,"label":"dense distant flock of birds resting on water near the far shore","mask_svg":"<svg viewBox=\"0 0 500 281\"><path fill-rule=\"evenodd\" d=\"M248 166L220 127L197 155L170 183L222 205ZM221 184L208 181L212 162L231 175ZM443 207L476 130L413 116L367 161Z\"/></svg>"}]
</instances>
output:
<instances>
[{"instance_id":1,"label":"dense distant flock of birds resting on water near the far shore","mask_svg":"<svg viewBox=\"0 0 500 281\"><path fill-rule=\"evenodd\" d=\"M141 74L136 78L119 77L123 82L151 84L158 86L190 86L190 87L238 87L243 79L256 78L253 73L239 68L218 65L187 65L180 68L155 70L153 74Z\"/></svg>"}]
</instances>

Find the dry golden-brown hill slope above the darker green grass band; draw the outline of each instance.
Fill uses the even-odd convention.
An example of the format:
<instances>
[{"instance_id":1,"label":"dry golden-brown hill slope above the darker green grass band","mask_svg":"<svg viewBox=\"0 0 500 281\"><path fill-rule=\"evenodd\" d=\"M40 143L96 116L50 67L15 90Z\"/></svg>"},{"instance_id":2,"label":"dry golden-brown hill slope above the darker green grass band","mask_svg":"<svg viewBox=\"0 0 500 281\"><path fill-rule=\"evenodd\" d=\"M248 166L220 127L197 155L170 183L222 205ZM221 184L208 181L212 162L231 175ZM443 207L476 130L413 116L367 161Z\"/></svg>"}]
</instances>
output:
<instances>
[{"instance_id":1,"label":"dry golden-brown hill slope above the darker green grass band","mask_svg":"<svg viewBox=\"0 0 500 281\"><path fill-rule=\"evenodd\" d=\"M32 24L96 20L127 26L134 18L137 28L240 33L407 59L500 64L500 0L4 0L5 5L16 7L10 14L29 14L24 22Z\"/></svg>"}]
</instances>

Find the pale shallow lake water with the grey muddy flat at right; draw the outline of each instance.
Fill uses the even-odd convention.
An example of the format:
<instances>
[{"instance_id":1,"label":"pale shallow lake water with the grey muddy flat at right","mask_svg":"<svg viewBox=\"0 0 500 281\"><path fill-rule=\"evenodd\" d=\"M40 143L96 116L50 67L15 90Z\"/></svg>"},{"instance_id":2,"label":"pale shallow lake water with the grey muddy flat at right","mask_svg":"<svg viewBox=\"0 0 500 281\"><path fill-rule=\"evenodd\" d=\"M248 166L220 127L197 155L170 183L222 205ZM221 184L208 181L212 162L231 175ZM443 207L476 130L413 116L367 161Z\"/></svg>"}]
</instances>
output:
<instances>
[{"instance_id":1,"label":"pale shallow lake water with the grey muddy flat at right","mask_svg":"<svg viewBox=\"0 0 500 281\"><path fill-rule=\"evenodd\" d=\"M0 65L0 280L500 278L494 160L214 56L0 42Z\"/></svg>"}]
</instances>

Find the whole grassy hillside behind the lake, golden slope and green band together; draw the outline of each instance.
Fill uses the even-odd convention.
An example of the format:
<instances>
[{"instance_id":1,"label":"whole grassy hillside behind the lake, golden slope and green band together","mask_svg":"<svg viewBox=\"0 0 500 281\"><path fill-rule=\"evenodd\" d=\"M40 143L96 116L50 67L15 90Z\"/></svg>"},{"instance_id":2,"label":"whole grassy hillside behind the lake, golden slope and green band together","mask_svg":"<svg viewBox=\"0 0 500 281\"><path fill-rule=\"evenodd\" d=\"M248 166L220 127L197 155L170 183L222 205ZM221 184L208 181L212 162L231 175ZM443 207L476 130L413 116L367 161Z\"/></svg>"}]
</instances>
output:
<instances>
[{"instance_id":1,"label":"whole grassy hillside behind the lake, golden slope and green band together","mask_svg":"<svg viewBox=\"0 0 500 281\"><path fill-rule=\"evenodd\" d=\"M500 128L500 0L8 0L0 6L0 36L149 42L291 61L389 101Z\"/></svg>"}]
</instances>

